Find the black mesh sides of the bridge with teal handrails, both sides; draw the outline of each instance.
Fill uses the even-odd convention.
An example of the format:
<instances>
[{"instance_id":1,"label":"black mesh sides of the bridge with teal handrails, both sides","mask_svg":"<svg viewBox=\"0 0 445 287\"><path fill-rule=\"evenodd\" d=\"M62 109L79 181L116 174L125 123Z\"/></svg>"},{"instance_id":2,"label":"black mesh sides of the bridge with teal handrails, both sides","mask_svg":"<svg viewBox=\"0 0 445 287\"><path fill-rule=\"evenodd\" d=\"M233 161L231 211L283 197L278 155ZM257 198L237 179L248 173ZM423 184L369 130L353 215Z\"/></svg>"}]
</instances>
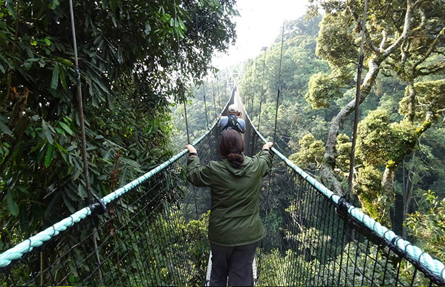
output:
<instances>
[{"instance_id":1,"label":"black mesh sides of the bridge with teal handrails, both sides","mask_svg":"<svg viewBox=\"0 0 445 287\"><path fill-rule=\"evenodd\" d=\"M246 115L246 154L264 138ZM226 105L226 109L227 109ZM194 143L218 160L216 124ZM267 235L257 249L259 285L445 285L444 265L367 217L281 153L262 183ZM177 154L103 198L0 254L3 285L203 285L209 258L209 189L186 180ZM97 229L97 254L92 241ZM101 274L101 275L99 275Z\"/></svg>"}]
</instances>

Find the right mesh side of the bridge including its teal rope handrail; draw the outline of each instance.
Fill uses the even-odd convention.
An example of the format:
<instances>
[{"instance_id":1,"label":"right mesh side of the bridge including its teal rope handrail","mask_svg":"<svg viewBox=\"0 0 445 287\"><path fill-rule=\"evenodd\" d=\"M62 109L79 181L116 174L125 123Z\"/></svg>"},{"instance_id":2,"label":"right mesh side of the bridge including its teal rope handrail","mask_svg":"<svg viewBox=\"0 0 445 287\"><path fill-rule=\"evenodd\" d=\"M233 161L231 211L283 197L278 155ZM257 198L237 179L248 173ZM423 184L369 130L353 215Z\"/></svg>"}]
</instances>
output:
<instances>
[{"instance_id":1,"label":"right mesh side of the bridge including its teal rope handrail","mask_svg":"<svg viewBox=\"0 0 445 287\"><path fill-rule=\"evenodd\" d=\"M244 110L245 112L245 110ZM266 139L246 120L246 152ZM445 267L296 167L275 148L257 251L264 286L444 286Z\"/></svg>"}]
</instances>

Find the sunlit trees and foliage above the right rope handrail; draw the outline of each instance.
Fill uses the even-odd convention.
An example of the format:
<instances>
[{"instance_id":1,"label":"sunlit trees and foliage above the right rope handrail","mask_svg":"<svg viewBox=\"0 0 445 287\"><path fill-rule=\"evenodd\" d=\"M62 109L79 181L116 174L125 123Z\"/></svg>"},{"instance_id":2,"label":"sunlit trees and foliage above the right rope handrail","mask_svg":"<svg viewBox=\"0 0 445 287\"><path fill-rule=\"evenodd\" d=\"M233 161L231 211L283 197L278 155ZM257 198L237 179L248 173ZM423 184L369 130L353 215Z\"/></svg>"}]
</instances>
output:
<instances>
[{"instance_id":1,"label":"sunlit trees and foliage above the right rope handrail","mask_svg":"<svg viewBox=\"0 0 445 287\"><path fill-rule=\"evenodd\" d=\"M316 18L285 24L285 35L292 36L283 44L277 146L340 194L348 189L360 40L357 15L363 2L312 1L309 16ZM370 3L351 200L443 260L444 227L439 221L445 197L445 23L438 13L445 7L440 1L435 4L433 8L423 1ZM325 9L321 20L316 14L320 7ZM403 33L405 13L411 30ZM312 33L296 28L303 23L315 27L309 30ZM262 101L259 129L269 139L279 86L280 40L277 33L266 52L246 61L240 84L255 124ZM434 204L431 195L425 201L429 190L435 194Z\"/></svg>"}]
</instances>

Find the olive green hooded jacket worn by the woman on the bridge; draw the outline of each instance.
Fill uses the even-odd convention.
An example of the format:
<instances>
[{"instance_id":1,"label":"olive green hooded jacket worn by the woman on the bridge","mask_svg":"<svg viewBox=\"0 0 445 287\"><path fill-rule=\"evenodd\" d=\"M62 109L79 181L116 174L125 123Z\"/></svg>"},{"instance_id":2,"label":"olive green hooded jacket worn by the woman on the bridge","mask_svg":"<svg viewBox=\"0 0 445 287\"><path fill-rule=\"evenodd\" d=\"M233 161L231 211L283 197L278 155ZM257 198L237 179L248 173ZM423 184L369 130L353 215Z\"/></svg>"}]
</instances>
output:
<instances>
[{"instance_id":1,"label":"olive green hooded jacket worn by the woman on the bridge","mask_svg":"<svg viewBox=\"0 0 445 287\"><path fill-rule=\"evenodd\" d=\"M259 188L272 165L272 152L244 156L240 166L227 159L203 167L198 156L187 161L187 178L196 187L210 187L212 209L209 241L220 246L255 243L266 235L259 218Z\"/></svg>"}]
</instances>

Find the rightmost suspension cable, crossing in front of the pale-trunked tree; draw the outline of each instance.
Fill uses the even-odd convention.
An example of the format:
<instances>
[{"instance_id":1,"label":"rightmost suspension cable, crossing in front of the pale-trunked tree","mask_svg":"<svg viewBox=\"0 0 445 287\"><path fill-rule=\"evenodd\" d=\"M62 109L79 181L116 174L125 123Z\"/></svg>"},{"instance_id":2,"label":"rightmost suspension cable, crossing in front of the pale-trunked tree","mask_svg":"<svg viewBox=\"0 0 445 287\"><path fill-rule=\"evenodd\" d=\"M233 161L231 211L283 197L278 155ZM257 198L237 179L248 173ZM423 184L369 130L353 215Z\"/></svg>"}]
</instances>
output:
<instances>
[{"instance_id":1,"label":"rightmost suspension cable, crossing in front of the pale-trunked tree","mask_svg":"<svg viewBox=\"0 0 445 287\"><path fill-rule=\"evenodd\" d=\"M361 84L361 70L363 67L364 57L364 38L366 29L366 10L368 10L368 0L365 0L365 7L363 10L363 20L361 21L361 43L359 64L357 66L357 83L355 87L355 111L354 111L354 128L353 128L353 143L351 146L351 158L349 161L349 176L348 176L348 192L346 197L353 191L353 174L354 174L354 159L355 159L355 142L357 141L357 125L359 122L359 105L360 105L360 84ZM348 200L348 198L346 198Z\"/></svg>"}]
</instances>

